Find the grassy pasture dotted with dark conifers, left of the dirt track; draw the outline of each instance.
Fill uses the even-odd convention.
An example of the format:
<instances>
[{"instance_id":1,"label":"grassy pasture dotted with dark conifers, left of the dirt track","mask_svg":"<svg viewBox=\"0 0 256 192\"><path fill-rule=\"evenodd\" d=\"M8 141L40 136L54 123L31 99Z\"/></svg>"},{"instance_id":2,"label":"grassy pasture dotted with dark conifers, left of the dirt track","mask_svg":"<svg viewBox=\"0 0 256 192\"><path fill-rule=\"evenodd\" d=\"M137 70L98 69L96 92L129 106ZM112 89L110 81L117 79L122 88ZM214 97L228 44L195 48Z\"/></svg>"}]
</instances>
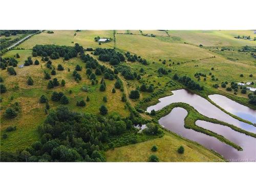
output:
<instances>
[{"instance_id":1,"label":"grassy pasture dotted with dark conifers, left of the dirt track","mask_svg":"<svg viewBox=\"0 0 256 192\"><path fill-rule=\"evenodd\" d=\"M31 50L12 50L5 56L9 57L16 53L19 53L20 58L18 65L24 63L24 60L28 56L31 56ZM40 57L32 57L32 60L39 60L38 66L25 66L22 69L15 67L17 73L16 76L9 75L7 70L1 71L1 76L4 79L4 84L7 87L7 92L1 94L3 101L1 102L1 135L8 126L17 126L15 132L8 133L8 138L1 141L1 149L6 151L15 151L18 148L24 148L34 141L38 140L38 133L36 132L37 126L46 118L45 104L39 102L39 97L45 94L49 99L51 109L55 109L60 103L51 101L52 92L63 92L69 98L69 104L67 106L77 112L99 114L100 105L104 104L109 110L109 114L117 113L122 116L128 116L129 110L124 108L125 103L121 101L122 93L120 90L116 90L116 93L112 93L115 80L111 81L106 79L106 91L99 91L99 84L91 85L91 81L87 78L84 63L80 58L73 58L68 61L63 61L62 58L52 60L52 65L57 68L58 64L65 67L64 71L57 71L56 75L51 75L52 79L56 77L60 82L61 79L65 79L66 86L58 86L53 89L48 89L47 84L49 80L44 79L44 71L50 73L50 70L46 68L46 62L40 61ZM72 76L72 73L76 65L83 67L81 72L78 72L82 80L77 83ZM68 72L70 68L70 72ZM27 79L31 76L34 80L33 86L27 85ZM97 76L100 81L102 76ZM15 89L18 86L18 89ZM89 92L81 90L82 86L90 88ZM72 91L70 94L69 91ZM81 99L86 100L87 96L90 98L89 102L86 102L85 107L76 106L76 102ZM108 102L103 102L103 96L106 96ZM7 119L4 117L5 110L11 106L12 103L18 102L21 106L21 111L14 119Z\"/></svg>"}]
</instances>

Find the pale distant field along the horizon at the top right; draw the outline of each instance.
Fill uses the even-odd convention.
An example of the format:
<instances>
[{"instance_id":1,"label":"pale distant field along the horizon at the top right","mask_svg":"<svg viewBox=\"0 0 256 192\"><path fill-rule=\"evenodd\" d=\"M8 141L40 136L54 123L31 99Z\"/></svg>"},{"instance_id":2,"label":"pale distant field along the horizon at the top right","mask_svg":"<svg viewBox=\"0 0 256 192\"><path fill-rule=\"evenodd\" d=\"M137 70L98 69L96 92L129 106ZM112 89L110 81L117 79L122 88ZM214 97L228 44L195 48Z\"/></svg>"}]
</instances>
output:
<instances>
[{"instance_id":1,"label":"pale distant field along the horizon at the top right","mask_svg":"<svg viewBox=\"0 0 256 192\"><path fill-rule=\"evenodd\" d=\"M193 45L199 46L255 46L256 41L249 41L246 39L237 39L235 36L243 35L250 36L251 38L256 37L253 30L205 30L205 31L174 31L169 30L171 37L180 37L181 41L188 42Z\"/></svg>"}]
</instances>

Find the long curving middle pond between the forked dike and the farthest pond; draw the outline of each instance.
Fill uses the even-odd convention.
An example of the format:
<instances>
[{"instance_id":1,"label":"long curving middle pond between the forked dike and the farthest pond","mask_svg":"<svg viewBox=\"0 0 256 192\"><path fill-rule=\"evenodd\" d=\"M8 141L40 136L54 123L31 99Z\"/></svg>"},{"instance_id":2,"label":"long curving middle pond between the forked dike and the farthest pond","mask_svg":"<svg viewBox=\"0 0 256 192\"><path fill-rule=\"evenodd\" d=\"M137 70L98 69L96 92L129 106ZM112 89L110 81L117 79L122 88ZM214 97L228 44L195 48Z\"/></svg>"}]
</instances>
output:
<instances>
[{"instance_id":1,"label":"long curving middle pond between the forked dike and the farthest pond","mask_svg":"<svg viewBox=\"0 0 256 192\"><path fill-rule=\"evenodd\" d=\"M246 131L256 133L256 127L250 125L248 123L239 121L230 115L226 114L225 112L221 111L217 106L211 104L205 98L193 94L187 90L181 89L172 91L173 95L163 97L159 99L159 103L152 105L146 109L147 112L151 112L153 109L155 111L163 109L165 106L175 103L175 102L184 102L191 106L193 106L199 113L203 114L206 117L218 119L220 121L227 122L229 124L233 124L241 129Z\"/></svg>"}]
</instances>

